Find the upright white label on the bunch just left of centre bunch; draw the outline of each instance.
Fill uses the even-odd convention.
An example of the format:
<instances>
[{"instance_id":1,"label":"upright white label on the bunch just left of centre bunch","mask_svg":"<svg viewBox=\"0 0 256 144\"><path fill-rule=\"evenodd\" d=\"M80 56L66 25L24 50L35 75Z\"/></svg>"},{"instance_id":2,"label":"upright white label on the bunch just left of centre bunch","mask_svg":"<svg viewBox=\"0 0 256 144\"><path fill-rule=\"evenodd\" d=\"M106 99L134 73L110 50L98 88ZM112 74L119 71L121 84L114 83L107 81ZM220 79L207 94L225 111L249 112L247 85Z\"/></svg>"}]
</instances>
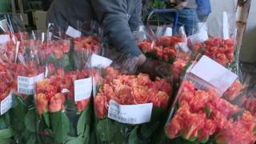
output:
<instances>
[{"instance_id":1,"label":"upright white label on the bunch just left of centre bunch","mask_svg":"<svg viewBox=\"0 0 256 144\"><path fill-rule=\"evenodd\" d=\"M90 98L92 91L92 78L80 79L74 81L74 101L82 101Z\"/></svg>"}]
</instances>

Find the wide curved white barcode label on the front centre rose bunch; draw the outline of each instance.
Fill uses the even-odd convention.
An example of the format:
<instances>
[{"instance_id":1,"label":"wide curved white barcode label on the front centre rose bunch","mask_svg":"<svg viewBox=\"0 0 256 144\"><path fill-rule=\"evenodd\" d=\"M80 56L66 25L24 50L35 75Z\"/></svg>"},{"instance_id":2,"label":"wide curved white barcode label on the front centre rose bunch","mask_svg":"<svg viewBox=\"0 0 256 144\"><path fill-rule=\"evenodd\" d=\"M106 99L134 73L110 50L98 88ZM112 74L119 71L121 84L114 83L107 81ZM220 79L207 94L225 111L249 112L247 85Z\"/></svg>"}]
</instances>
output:
<instances>
[{"instance_id":1,"label":"wide curved white barcode label on the front centre rose bunch","mask_svg":"<svg viewBox=\"0 0 256 144\"><path fill-rule=\"evenodd\" d=\"M153 103L140 105L119 105L114 100L110 100L108 118L117 122L137 125L150 122L152 110Z\"/></svg>"}]
</instances>

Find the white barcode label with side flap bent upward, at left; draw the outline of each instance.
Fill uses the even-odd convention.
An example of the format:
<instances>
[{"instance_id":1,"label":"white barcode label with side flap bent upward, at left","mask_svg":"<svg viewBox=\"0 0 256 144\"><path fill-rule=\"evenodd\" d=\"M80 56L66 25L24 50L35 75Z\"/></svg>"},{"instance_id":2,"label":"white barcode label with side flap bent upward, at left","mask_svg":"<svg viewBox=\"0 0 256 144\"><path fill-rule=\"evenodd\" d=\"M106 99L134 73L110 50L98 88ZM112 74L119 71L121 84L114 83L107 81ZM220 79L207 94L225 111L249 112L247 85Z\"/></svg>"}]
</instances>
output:
<instances>
[{"instance_id":1,"label":"white barcode label with side flap bent upward, at left","mask_svg":"<svg viewBox=\"0 0 256 144\"><path fill-rule=\"evenodd\" d=\"M18 76L18 93L26 95L34 94L34 83L42 80L43 78L43 73L31 78Z\"/></svg>"}]
</instances>

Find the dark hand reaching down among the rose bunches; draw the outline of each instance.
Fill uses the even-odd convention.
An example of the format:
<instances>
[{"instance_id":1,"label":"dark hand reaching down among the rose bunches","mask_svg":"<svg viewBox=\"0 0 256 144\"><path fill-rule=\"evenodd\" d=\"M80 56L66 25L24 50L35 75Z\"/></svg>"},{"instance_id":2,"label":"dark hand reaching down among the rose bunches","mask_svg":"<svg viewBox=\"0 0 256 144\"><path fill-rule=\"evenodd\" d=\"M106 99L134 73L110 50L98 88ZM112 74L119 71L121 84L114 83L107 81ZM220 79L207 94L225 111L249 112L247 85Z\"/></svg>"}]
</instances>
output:
<instances>
[{"instance_id":1,"label":"dark hand reaching down among the rose bunches","mask_svg":"<svg viewBox=\"0 0 256 144\"><path fill-rule=\"evenodd\" d=\"M171 74L171 65L166 62L156 61L147 58L141 66L138 66L138 73L149 74L151 78L167 78Z\"/></svg>"}]
</instances>

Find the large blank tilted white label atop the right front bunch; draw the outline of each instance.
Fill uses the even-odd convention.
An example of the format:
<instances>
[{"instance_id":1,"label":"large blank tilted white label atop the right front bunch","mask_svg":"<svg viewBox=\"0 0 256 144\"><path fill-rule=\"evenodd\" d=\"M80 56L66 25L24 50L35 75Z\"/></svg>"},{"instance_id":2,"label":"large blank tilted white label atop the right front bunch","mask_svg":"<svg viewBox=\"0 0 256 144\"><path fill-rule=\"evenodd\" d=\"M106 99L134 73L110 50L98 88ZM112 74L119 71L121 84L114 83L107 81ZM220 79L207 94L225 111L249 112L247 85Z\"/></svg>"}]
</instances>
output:
<instances>
[{"instance_id":1,"label":"large blank tilted white label atop the right front bunch","mask_svg":"<svg viewBox=\"0 0 256 144\"><path fill-rule=\"evenodd\" d=\"M218 64L205 55L192 68L190 73L198 78L210 83L212 86L220 90L222 95L238 78L238 76L227 70L224 66Z\"/></svg>"}]
</instances>

